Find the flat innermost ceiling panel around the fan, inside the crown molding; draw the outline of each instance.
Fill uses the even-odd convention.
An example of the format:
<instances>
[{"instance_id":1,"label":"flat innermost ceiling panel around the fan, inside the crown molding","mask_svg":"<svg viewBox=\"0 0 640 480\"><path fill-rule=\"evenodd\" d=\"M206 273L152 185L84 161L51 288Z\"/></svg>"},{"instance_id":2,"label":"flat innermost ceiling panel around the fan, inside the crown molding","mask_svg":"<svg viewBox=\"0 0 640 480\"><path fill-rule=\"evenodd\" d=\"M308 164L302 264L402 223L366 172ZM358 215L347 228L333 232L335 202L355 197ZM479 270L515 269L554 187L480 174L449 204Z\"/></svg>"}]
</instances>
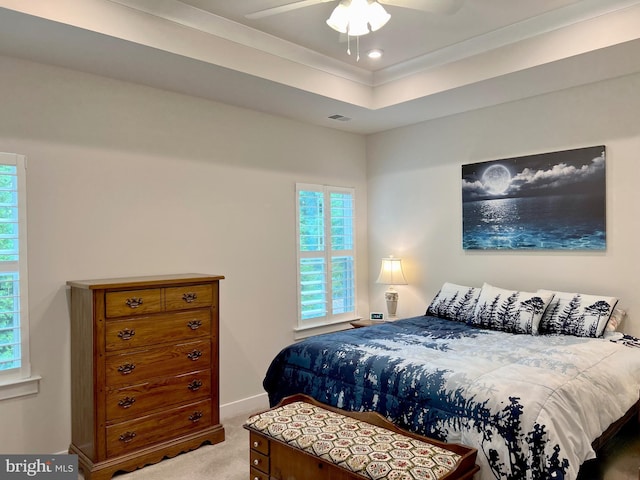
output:
<instances>
[{"instance_id":1,"label":"flat innermost ceiling panel around the fan, inside the crown molding","mask_svg":"<svg viewBox=\"0 0 640 480\"><path fill-rule=\"evenodd\" d=\"M430 0L425 3L449 3L454 0ZM463 1L463 0L460 0ZM268 33L274 37L301 45L369 71L381 70L437 50L494 32L505 26L543 15L558 8L579 3L578 0L467 0L453 14L428 12L385 5L391 20L379 31L360 38L360 50L384 50L379 61L364 55L356 60L355 41L350 42L352 55L347 55L346 38L332 30L325 20L337 2L318 1L315 5L270 15L255 20L247 14L283 4L297 4L293 0L183 0L182 3L230 19L246 27ZM303 2L300 2L304 4ZM395 2L393 2L395 3ZM412 2L407 2L411 4Z\"/></svg>"}]
</instances>

